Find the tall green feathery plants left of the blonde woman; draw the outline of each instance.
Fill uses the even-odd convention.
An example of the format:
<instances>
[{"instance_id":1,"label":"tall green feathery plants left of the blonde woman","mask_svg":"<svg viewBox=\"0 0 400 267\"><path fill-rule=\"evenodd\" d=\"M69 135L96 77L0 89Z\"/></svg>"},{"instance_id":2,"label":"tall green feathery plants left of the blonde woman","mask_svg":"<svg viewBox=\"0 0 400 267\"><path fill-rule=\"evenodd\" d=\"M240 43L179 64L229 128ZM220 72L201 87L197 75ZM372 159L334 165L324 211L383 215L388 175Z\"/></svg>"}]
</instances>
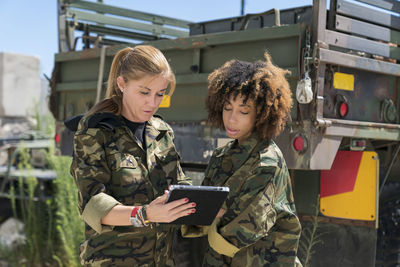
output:
<instances>
[{"instance_id":1,"label":"tall green feathery plants left of the blonde woman","mask_svg":"<svg viewBox=\"0 0 400 267\"><path fill-rule=\"evenodd\" d=\"M18 169L32 169L29 151L21 150ZM0 258L11 266L80 266L78 246L84 238L84 224L77 208L77 188L69 174L70 157L47 153L57 178L51 184L52 198L39 198L38 180L19 177L16 188L11 186L14 216L25 225L26 242L12 250L0 248ZM8 256L4 256L7 254Z\"/></svg>"}]
</instances>

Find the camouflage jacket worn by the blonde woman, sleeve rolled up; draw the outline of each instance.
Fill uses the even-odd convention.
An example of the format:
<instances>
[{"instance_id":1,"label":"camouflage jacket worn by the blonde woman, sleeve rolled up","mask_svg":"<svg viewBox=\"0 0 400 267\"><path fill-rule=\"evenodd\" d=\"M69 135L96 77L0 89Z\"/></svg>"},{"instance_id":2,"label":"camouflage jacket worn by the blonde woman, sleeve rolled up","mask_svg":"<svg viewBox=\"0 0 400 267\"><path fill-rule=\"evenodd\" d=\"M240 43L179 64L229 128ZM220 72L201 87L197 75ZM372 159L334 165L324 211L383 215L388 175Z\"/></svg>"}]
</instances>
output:
<instances>
[{"instance_id":1,"label":"camouflage jacket worn by the blonde woman, sleeve rolled up","mask_svg":"<svg viewBox=\"0 0 400 267\"><path fill-rule=\"evenodd\" d=\"M102 114L102 115L100 115ZM105 118L96 118L103 116ZM93 123L95 121L95 123ZM101 219L118 204L144 205L169 184L190 183L182 172L173 131L152 117L143 148L120 117L99 113L80 121L71 173L85 221L81 260L85 266L169 266L172 226L107 226Z\"/></svg>"}]
</instances>

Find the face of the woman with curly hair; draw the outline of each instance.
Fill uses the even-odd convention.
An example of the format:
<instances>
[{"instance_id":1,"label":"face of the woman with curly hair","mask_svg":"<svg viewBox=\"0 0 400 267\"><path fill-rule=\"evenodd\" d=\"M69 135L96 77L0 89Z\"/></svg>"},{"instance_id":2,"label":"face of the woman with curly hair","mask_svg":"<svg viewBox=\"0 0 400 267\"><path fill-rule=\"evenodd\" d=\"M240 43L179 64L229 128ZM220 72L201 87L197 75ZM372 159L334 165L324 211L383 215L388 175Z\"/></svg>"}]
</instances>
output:
<instances>
[{"instance_id":1,"label":"face of the woman with curly hair","mask_svg":"<svg viewBox=\"0 0 400 267\"><path fill-rule=\"evenodd\" d=\"M232 96L225 102L222 111L226 133L230 138L238 139L239 144L251 135L256 122L254 101L251 99L248 99L246 103L243 101L244 97L241 95L238 95L236 99Z\"/></svg>"}]
</instances>

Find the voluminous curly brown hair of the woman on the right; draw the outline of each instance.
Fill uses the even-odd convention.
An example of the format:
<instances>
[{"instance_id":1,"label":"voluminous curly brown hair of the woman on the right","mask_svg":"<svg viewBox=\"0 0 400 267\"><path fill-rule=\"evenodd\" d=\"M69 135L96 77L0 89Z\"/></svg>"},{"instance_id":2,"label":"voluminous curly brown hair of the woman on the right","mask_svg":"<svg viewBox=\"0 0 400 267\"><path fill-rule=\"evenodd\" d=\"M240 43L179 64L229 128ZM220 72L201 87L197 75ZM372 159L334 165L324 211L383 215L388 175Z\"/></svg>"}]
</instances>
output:
<instances>
[{"instance_id":1,"label":"voluminous curly brown hair of the woman on the right","mask_svg":"<svg viewBox=\"0 0 400 267\"><path fill-rule=\"evenodd\" d=\"M232 96L236 99L240 95L245 103L249 99L254 101L253 131L259 138L271 139L281 133L292 107L292 93L285 77L290 72L272 64L267 52L264 57L265 61L254 63L230 60L208 76L206 108L211 125L224 129L224 104Z\"/></svg>"}]
</instances>

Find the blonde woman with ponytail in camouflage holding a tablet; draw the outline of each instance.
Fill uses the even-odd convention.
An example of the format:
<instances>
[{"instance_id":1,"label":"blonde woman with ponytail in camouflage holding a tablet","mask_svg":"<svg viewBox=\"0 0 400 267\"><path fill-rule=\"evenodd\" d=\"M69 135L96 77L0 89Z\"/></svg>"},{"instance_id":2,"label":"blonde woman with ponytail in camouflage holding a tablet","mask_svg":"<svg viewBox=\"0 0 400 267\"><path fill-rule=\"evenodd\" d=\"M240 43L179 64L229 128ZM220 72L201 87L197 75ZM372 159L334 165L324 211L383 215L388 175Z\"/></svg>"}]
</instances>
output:
<instances>
[{"instance_id":1,"label":"blonde woman with ponytail in camouflage holding a tablet","mask_svg":"<svg viewBox=\"0 0 400 267\"><path fill-rule=\"evenodd\" d=\"M175 77L151 46L119 51L106 98L79 122L71 173L86 225L84 266L172 266L171 222L195 212L180 199L165 204L170 184L186 183L171 127L155 116Z\"/></svg>"}]
</instances>

